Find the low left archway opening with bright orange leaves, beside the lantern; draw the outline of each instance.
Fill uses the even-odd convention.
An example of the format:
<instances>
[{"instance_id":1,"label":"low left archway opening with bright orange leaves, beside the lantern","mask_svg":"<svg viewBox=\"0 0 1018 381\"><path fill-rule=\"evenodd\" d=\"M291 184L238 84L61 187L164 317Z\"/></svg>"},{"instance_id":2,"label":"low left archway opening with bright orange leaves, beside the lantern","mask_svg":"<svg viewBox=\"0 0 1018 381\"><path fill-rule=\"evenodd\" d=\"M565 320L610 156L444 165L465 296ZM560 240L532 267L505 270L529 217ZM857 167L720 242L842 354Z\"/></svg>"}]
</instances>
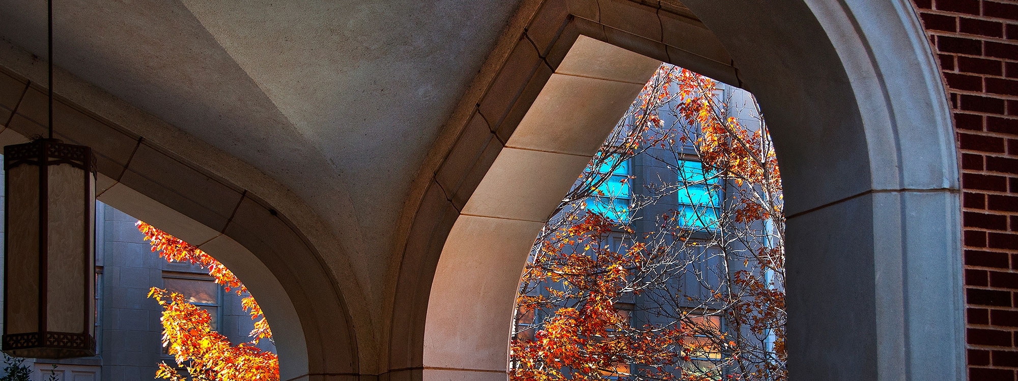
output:
<instances>
[{"instance_id":1,"label":"low left archway opening with bright orange leaves, beside the lantern","mask_svg":"<svg viewBox=\"0 0 1018 381\"><path fill-rule=\"evenodd\" d=\"M279 380L268 320L237 275L111 205L96 211L96 356L5 358L7 377Z\"/></svg>"}]
</instances>

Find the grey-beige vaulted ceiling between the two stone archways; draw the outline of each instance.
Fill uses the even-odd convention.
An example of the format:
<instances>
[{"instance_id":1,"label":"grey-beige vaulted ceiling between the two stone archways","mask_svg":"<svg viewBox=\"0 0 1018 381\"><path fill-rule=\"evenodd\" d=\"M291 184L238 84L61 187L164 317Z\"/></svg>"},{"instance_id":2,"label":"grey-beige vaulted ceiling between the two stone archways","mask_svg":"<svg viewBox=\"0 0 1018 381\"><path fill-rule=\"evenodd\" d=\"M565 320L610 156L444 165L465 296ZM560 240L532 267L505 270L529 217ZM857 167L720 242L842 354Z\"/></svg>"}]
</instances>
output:
<instances>
[{"instance_id":1,"label":"grey-beige vaulted ceiling between the two stone archways","mask_svg":"<svg viewBox=\"0 0 1018 381\"><path fill-rule=\"evenodd\" d=\"M362 284L377 297L387 261L373 258L389 256L416 172L515 7L60 0L54 62L296 194L379 275ZM45 60L45 11L0 2L0 38Z\"/></svg>"}]
</instances>

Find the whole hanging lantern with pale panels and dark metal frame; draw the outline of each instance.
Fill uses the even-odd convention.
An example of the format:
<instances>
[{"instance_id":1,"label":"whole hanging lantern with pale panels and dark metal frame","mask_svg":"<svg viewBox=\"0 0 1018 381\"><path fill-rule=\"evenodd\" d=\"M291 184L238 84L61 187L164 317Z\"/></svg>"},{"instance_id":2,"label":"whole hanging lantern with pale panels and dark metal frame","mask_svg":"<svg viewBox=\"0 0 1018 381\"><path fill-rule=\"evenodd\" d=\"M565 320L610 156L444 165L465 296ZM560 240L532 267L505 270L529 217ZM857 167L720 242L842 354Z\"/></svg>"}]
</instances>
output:
<instances>
[{"instance_id":1,"label":"whole hanging lantern with pale panels and dark metal frame","mask_svg":"<svg viewBox=\"0 0 1018 381\"><path fill-rule=\"evenodd\" d=\"M57 139L4 147L3 352L96 355L96 171L92 149Z\"/></svg>"}]
</instances>

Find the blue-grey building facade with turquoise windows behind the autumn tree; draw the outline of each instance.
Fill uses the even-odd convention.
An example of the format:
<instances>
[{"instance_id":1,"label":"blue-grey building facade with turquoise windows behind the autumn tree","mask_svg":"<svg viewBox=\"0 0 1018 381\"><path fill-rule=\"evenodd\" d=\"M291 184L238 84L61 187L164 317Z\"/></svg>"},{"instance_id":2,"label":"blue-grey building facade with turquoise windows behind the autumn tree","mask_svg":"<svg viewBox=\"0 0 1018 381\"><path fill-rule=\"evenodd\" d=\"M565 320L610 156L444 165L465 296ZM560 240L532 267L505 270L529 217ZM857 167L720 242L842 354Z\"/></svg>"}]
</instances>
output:
<instances>
[{"instance_id":1,"label":"blue-grey building facade with turquoise windows behind the autumn tree","mask_svg":"<svg viewBox=\"0 0 1018 381\"><path fill-rule=\"evenodd\" d=\"M661 69L666 70L666 69ZM676 68L670 68L676 70ZM661 71L659 71L661 72ZM655 79L652 79L654 81ZM651 84L648 83L648 86ZM672 93L677 93L678 84L670 85ZM761 132L761 139L757 144L767 145L767 149L760 145L760 151L773 152L773 146L767 133L764 130L762 117L752 96L741 88L718 83L714 91L715 103L722 113L721 119L735 118L739 127L750 134ZM681 322L689 329L689 336L684 339L692 343L692 346L702 345L697 350L687 353L689 360L684 361L681 367L688 374L696 374L709 379L721 380L733 372L738 372L738 368L732 364L723 364L731 356L732 351L724 348L722 344L715 344L712 340L727 342L728 339L720 339L722 332L728 332L731 337L736 337L734 324L730 324L726 319L729 311L727 309L734 306L727 306L721 300L713 297L715 293L727 293L729 288L736 284L730 282L726 273L734 275L739 271L754 271L754 276L761 279L766 287L772 290L784 290L784 268L777 269L780 275L776 276L775 270L768 270L767 274L761 273L760 263L753 255L757 250L775 242L782 245L780 248L783 259L784 248L781 237L784 232L775 232L769 229L774 226L770 218L755 219L751 223L738 223L735 220L735 213L741 206L738 197L740 191L762 195L765 192L759 184L748 184L737 181L737 176L726 176L717 170L710 170L701 162L699 156L698 143L696 140L703 136L698 126L690 126L688 122L682 120L677 115L676 108L681 104L678 99L671 103L662 105L656 112L661 122L661 127L649 128L644 132L644 139L639 145L639 151L635 155L619 163L615 155L607 152L616 151L612 145L620 144L623 140L626 129L637 128L634 115L640 112L640 102L637 101L627 113L627 116L616 126L611 137L602 147L599 153L589 165L589 172L597 171L597 174L583 176L573 185L575 191L577 187L591 187L596 184L596 191L585 199L564 201L562 211L552 217L542 231L532 250L534 254L529 261L533 261L540 255L538 251L546 250L545 245L561 248L564 252L573 253L576 250L591 256L593 261L599 261L599 250L621 253L627 248L633 247L635 243L645 244L644 256L654 256L651 253L659 253L662 258L639 262L642 268L630 268L628 275L635 291L627 291L620 294L615 300L617 313L625 316L625 321L631 328L652 325L656 327L669 327ZM653 123L653 122L643 122ZM672 138L662 139L661 136L671 136ZM679 137L683 138L679 138ZM614 141L613 141L614 140ZM618 153L615 153L618 154ZM765 155L767 153L764 153ZM606 155L606 158L602 158ZM748 156L745 158L749 158ZM776 168L769 171L777 170ZM772 175L777 176L774 172ZM570 191L570 196L574 195ZM745 193L742 193L745 195ZM762 196L761 196L762 197ZM774 196L775 200L781 202L779 195ZM762 201L762 200L760 200ZM781 207L780 205L778 206ZM573 225L582 223L585 212L595 212L612 221L614 231L599 238L583 238L583 236L572 236L569 234L558 235L554 231L562 232L564 229L572 228ZM561 223L569 218L567 214L579 216L579 220L574 223ZM662 219L662 215L674 216L674 219ZM782 224L784 217L778 218ZM669 228L666 229L665 226ZM625 228L624 228L625 227ZM672 228L681 227L682 231L671 231ZM629 231L631 229L631 231ZM552 232L552 233L549 233ZM665 237L675 233L674 236ZM593 235L593 237L598 237ZM678 237L681 237L679 243ZM571 243L561 244L563 240L575 240L575 245ZM562 246L560 246L562 245ZM585 248L584 248L585 247ZM593 247L593 250L590 250ZM554 249L552 249L554 250ZM660 254L658 250L668 251L669 254ZM547 258L547 256L545 256ZM752 263L746 265L743 263ZM560 261L568 261L563 257L552 255L549 262L543 262L535 271L541 272L542 268L559 268ZM660 263L659 263L660 262ZM681 263L680 265L668 262ZM593 271L587 281L605 281L600 279L600 271L607 271L606 267L614 265L616 262L608 262L595 265L592 268L585 268L582 264L573 264L575 271ZM625 261L617 262L624 266L634 263ZM772 264L768 264L771 266ZM570 267L570 269L573 267ZM644 273L647 272L647 273ZM648 274L649 273L649 274ZM660 276L656 276L660 275ZM667 280L660 280L667 279ZM641 281L656 282L654 285L638 285ZM596 290L582 289L585 292L571 292L576 290L576 285L566 285L569 281L565 277L545 278L543 281L521 283L520 292L528 296L543 296L548 300L560 300L550 304L539 303L541 307L533 310L517 305L517 313L514 324L515 331L513 338L520 340L532 340L538 330L544 329L543 322L557 314L558 308L576 308L583 306L586 293L598 293ZM583 280L580 280L581 282ZM612 283L618 285L616 283ZM553 293L562 293L555 294ZM563 299L562 295L570 296ZM749 298L746 296L746 298ZM781 298L781 303L784 298ZM757 312L764 307L758 306ZM780 312L784 314L782 309ZM587 317L587 319L595 319ZM784 320L781 320L783 325ZM586 324L586 323L584 323ZM784 361L778 360L777 354L773 352L775 336L773 333L754 335L748 326L740 326L742 331L739 337L747 337L747 340L740 342L745 345L742 351L746 353L740 356L761 355L773 358L772 362L778 364L777 367L784 369ZM783 328L783 327L782 327ZM756 337L758 336L758 337ZM748 338L754 337L754 338ZM784 339L784 337L782 337ZM742 339L740 338L740 341ZM750 353L750 347L761 348L759 354ZM592 348L591 348L592 350ZM671 348L669 351L676 351ZM634 364L617 364L614 369L603 369L601 372L611 378L623 378L629 374L640 375L640 370ZM651 369L645 369L647 371ZM666 368L673 376L678 376L683 370ZM562 372L572 372L575 370L563 369ZM756 369L750 372L756 371Z\"/></svg>"}]
</instances>

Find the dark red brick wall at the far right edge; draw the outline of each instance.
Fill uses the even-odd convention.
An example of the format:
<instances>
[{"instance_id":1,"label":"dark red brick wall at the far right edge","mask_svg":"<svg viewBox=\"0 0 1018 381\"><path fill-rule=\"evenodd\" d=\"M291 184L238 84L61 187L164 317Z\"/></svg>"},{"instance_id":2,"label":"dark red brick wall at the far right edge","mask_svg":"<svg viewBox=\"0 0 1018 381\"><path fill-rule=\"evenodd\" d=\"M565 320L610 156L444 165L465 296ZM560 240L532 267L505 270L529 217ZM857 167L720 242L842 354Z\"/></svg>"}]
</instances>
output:
<instances>
[{"instance_id":1,"label":"dark red brick wall at the far right edge","mask_svg":"<svg viewBox=\"0 0 1018 381\"><path fill-rule=\"evenodd\" d=\"M969 379L1018 371L1018 1L914 0L961 149Z\"/></svg>"}]
</instances>

